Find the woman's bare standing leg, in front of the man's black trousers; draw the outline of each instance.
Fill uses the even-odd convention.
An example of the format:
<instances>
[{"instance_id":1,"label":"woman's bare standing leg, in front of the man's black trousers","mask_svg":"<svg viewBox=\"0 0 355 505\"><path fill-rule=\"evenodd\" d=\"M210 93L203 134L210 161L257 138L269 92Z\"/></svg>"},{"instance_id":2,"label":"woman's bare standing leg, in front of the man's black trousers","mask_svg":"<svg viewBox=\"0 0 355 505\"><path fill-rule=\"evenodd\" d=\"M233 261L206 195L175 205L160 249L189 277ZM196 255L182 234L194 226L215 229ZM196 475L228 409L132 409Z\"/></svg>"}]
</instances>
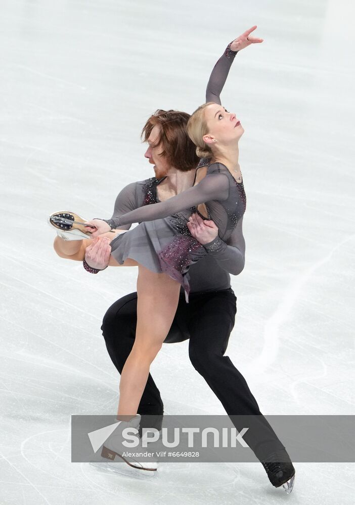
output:
<instances>
[{"instance_id":1,"label":"woman's bare standing leg, in front of the man's black trousers","mask_svg":"<svg viewBox=\"0 0 355 505\"><path fill-rule=\"evenodd\" d=\"M121 373L117 416L137 414L150 365L169 332L179 302L178 281L141 265L138 272L136 339Z\"/></svg>"}]
</instances>

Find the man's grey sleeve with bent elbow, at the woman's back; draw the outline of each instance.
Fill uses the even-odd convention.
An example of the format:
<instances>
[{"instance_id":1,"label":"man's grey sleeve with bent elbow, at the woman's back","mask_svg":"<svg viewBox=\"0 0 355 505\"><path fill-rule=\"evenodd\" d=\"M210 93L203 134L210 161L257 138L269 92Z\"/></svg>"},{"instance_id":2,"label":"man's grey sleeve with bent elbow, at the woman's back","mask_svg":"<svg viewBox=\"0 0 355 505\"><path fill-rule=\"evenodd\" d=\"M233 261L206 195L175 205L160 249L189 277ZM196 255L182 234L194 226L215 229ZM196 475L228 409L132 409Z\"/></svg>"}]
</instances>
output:
<instances>
[{"instance_id":1,"label":"man's grey sleeve with bent elbow, at the woman's back","mask_svg":"<svg viewBox=\"0 0 355 505\"><path fill-rule=\"evenodd\" d=\"M245 240L242 226L243 216L226 242L217 236L211 242L204 244L208 254L213 256L221 268L232 275L240 274L245 265Z\"/></svg>"}]
</instances>

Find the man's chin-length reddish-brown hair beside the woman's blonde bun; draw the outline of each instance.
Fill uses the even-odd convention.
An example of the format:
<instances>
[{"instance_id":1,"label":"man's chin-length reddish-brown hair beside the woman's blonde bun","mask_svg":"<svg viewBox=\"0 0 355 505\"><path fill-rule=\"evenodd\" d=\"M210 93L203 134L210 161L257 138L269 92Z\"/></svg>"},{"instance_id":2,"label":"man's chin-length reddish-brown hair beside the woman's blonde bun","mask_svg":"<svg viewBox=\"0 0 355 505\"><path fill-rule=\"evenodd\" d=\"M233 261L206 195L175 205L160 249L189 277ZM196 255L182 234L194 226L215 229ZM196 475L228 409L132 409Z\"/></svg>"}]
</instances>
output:
<instances>
[{"instance_id":1,"label":"man's chin-length reddish-brown hair beside the woman's blonde bun","mask_svg":"<svg viewBox=\"0 0 355 505\"><path fill-rule=\"evenodd\" d=\"M148 141L155 125L160 126L160 136L155 144L161 145L161 154L168 163L182 172L196 168L199 158L196 155L196 145L187 133L187 123L190 114L180 111L163 111L158 109L146 122L142 130L142 137Z\"/></svg>"}]
</instances>

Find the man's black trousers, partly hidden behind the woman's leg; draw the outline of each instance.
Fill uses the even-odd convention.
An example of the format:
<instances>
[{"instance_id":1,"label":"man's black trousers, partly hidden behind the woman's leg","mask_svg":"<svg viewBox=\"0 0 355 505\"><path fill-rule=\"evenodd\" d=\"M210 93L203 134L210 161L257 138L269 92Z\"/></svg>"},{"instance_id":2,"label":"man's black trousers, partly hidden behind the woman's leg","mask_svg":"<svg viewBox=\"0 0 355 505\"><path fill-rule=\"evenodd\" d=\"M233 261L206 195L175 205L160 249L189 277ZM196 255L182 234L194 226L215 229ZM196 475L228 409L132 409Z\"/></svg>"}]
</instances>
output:
<instances>
[{"instance_id":1,"label":"man's black trousers, partly hidden behind the woman's leg","mask_svg":"<svg viewBox=\"0 0 355 505\"><path fill-rule=\"evenodd\" d=\"M165 343L189 341L189 357L228 415L257 416L254 429L244 439L259 459L270 452L284 449L268 421L262 416L246 380L231 360L224 356L237 312L236 296L231 288L219 291L191 293L189 304L181 294L178 309ZM119 373L135 341L137 325L137 292L117 300L106 312L102 332L110 358ZM163 401L151 374L148 376L138 413L157 416L160 429ZM152 418L150 418L152 419ZM237 426L239 431L243 426Z\"/></svg>"}]
</instances>

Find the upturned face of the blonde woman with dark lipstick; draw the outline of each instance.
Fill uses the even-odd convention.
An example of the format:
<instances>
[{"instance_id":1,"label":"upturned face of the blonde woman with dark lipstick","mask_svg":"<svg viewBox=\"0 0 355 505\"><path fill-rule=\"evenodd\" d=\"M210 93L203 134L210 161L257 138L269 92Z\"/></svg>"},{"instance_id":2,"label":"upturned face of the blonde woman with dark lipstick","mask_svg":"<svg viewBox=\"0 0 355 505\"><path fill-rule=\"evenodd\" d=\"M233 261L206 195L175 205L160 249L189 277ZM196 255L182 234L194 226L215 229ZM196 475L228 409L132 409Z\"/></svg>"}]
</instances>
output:
<instances>
[{"instance_id":1,"label":"upturned face of the blonde woman with dark lipstick","mask_svg":"<svg viewBox=\"0 0 355 505\"><path fill-rule=\"evenodd\" d=\"M239 139L244 133L244 128L240 124L236 115L228 112L223 106L211 104L205 109L205 118L208 128L204 140L213 142L213 139L223 143ZM209 139L205 137L210 137Z\"/></svg>"}]
</instances>

